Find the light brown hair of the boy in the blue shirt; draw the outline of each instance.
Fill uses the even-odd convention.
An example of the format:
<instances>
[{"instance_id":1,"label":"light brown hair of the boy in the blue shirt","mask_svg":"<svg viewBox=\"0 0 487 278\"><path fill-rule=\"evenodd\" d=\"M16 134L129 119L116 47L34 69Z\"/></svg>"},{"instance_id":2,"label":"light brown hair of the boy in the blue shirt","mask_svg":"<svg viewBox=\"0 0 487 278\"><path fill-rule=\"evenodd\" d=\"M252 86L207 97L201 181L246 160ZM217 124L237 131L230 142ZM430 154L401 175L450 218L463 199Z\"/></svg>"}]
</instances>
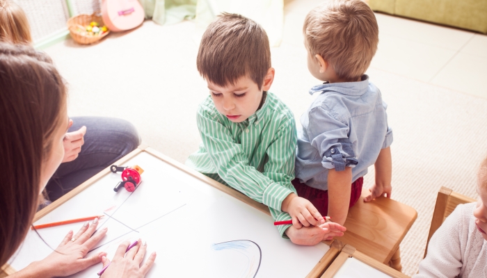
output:
<instances>
[{"instance_id":1,"label":"light brown hair of the boy in the blue shirt","mask_svg":"<svg viewBox=\"0 0 487 278\"><path fill-rule=\"evenodd\" d=\"M376 54L376 17L361 0L326 1L308 13L303 33L311 56L323 57L340 79L356 81Z\"/></svg>"}]
</instances>

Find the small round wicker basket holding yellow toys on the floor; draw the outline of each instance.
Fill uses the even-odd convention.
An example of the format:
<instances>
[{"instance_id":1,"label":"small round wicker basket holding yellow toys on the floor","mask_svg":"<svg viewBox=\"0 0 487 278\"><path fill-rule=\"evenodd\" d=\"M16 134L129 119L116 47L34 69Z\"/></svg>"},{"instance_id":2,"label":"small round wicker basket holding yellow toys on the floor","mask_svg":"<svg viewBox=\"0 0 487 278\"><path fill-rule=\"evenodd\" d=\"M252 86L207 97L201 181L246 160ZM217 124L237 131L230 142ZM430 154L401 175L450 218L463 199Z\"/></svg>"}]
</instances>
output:
<instances>
[{"instance_id":1,"label":"small round wicker basket holding yellow toys on the floor","mask_svg":"<svg viewBox=\"0 0 487 278\"><path fill-rule=\"evenodd\" d=\"M70 30L71 38L79 44L92 44L110 33L103 25L102 16L97 13L71 17L67 21L67 28Z\"/></svg>"}]
</instances>

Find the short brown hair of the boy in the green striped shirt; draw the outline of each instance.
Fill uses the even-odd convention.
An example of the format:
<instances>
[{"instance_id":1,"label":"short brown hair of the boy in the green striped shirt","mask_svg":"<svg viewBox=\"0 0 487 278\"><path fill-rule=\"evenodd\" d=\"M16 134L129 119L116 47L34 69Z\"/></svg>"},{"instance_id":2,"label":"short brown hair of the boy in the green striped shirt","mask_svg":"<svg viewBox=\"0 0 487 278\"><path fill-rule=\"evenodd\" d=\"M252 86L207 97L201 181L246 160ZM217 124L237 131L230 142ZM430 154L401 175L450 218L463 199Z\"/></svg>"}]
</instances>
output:
<instances>
[{"instance_id":1,"label":"short brown hair of the boy in the green striped shirt","mask_svg":"<svg viewBox=\"0 0 487 278\"><path fill-rule=\"evenodd\" d=\"M260 90L271 67L269 38L252 19L223 13L203 34L196 65L201 76L216 85L233 85L248 76Z\"/></svg>"}]
</instances>

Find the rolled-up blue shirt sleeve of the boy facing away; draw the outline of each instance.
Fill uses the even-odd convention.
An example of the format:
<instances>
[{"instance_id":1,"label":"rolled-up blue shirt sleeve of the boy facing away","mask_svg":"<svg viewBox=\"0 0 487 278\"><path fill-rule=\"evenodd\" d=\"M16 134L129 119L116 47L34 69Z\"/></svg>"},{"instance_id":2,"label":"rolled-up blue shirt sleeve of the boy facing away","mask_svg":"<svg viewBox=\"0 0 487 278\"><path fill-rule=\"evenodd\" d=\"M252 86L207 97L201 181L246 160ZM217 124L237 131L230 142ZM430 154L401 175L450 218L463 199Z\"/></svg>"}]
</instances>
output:
<instances>
[{"instance_id":1,"label":"rolled-up blue shirt sleeve of the boy facing away","mask_svg":"<svg viewBox=\"0 0 487 278\"><path fill-rule=\"evenodd\" d=\"M326 169L344 171L345 167L358 164L353 142L349 139L350 127L346 121L337 120L337 115L318 106L308 113L308 138L322 158L321 165Z\"/></svg>"}]
</instances>

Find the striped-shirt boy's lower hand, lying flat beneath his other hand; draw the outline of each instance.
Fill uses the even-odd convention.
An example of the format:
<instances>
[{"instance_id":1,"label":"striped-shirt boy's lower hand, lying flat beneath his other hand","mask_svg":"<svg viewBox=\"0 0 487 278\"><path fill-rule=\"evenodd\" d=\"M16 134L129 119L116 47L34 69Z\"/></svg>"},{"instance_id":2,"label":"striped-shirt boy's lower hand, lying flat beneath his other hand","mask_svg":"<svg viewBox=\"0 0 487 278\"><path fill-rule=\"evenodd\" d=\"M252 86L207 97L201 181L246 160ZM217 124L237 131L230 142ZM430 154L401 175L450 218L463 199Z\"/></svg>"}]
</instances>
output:
<instances>
[{"instance_id":1,"label":"striped-shirt boy's lower hand, lying flat beneath his other hand","mask_svg":"<svg viewBox=\"0 0 487 278\"><path fill-rule=\"evenodd\" d=\"M317 245L320 241L331 239L334 236L343 236L346 228L334 222L326 222L319 226L303 227L296 229L294 226L287 228L286 235L292 243L297 245Z\"/></svg>"}]
</instances>

